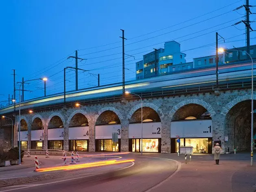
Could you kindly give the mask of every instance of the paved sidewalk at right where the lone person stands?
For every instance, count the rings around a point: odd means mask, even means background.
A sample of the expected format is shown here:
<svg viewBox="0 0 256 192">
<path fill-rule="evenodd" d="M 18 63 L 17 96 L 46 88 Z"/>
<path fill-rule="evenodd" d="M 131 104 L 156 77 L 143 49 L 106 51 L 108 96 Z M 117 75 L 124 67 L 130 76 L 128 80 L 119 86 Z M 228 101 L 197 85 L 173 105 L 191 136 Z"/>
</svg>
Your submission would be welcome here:
<svg viewBox="0 0 256 192">
<path fill-rule="evenodd" d="M 184 155 L 144 153 L 149 157 L 161 157 L 182 163 L 181 170 L 153 192 L 191 191 L 191 192 L 255 192 L 256 158 L 254 167 L 250 166 L 250 153 L 223 154 L 219 165 L 215 165 L 214 155 L 194 154 L 187 164 Z"/>
</svg>

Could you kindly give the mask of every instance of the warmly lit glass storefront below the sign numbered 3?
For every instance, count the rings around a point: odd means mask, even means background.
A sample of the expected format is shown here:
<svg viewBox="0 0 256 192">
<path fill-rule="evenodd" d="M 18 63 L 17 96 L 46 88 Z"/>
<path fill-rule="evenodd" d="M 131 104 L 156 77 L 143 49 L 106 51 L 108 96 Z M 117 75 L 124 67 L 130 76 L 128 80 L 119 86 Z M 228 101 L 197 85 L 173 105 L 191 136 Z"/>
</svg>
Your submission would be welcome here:
<svg viewBox="0 0 256 192">
<path fill-rule="evenodd" d="M 118 139 L 118 142 L 115 144 L 112 139 L 96 139 L 96 151 L 120 151 L 121 139 Z"/>
</svg>

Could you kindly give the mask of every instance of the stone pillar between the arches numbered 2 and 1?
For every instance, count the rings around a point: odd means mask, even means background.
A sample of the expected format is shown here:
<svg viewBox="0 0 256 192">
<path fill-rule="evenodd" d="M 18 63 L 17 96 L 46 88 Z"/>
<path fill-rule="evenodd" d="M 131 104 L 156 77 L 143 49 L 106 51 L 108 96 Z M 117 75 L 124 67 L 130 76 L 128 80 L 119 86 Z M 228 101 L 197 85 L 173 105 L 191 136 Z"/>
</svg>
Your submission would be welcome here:
<svg viewBox="0 0 256 192">
<path fill-rule="evenodd" d="M 161 126 L 161 153 L 171 153 L 171 121 L 164 117 L 161 119 Z"/>
</svg>

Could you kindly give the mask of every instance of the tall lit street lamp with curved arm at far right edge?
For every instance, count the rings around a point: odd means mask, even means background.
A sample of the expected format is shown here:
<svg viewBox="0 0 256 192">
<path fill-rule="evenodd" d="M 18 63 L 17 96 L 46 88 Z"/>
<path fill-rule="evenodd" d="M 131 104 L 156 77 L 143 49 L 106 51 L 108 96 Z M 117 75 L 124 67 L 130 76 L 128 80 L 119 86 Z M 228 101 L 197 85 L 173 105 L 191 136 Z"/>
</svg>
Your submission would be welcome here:
<svg viewBox="0 0 256 192">
<path fill-rule="evenodd" d="M 219 52 L 224 52 L 225 50 L 223 48 L 218 49 Z M 253 166 L 253 59 L 252 56 L 247 53 L 246 51 L 240 51 L 240 50 L 231 50 L 231 51 L 237 51 L 237 52 L 244 52 L 246 53 L 252 60 L 252 124 L 251 124 L 251 166 Z"/>
</svg>

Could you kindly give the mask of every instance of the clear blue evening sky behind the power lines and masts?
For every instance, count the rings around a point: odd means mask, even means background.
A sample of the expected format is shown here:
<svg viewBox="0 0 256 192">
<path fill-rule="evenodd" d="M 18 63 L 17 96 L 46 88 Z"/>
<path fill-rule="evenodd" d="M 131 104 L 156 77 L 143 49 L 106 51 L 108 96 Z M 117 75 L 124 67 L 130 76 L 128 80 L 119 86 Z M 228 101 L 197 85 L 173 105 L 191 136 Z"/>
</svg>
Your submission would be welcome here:
<svg viewBox="0 0 256 192">
<path fill-rule="evenodd" d="M 78 66 L 91 70 L 90 73 L 100 73 L 101 84 L 121 82 L 120 29 L 125 30 L 125 37 L 128 39 L 125 41 L 126 54 L 135 56 L 135 59 L 126 56 L 126 80 L 135 79 L 135 62 L 143 54 L 153 51 L 153 48 L 163 47 L 165 41 L 179 42 L 181 50 L 187 54 L 187 62 L 199 56 L 215 54 L 215 44 L 203 45 L 215 43 L 216 31 L 228 42 L 220 42 L 221 46 L 244 46 L 244 24 L 237 25 L 237 28 L 231 26 L 240 21 L 242 18 L 239 17 L 245 13 L 244 9 L 237 12 L 232 10 L 244 2 L 245 0 L 2 0 L 0 94 L 4 96 L 0 95 L 0 101 L 7 100 L 8 94 L 13 94 L 12 69 L 16 70 L 17 81 L 21 81 L 22 77 L 25 80 L 48 77 L 47 94 L 62 92 L 62 70 L 64 67 L 74 66 L 75 60 L 66 58 L 74 56 L 75 50 L 78 50 L 78 56 L 87 59 L 79 62 Z M 224 8 L 220 9 L 222 7 Z M 216 9 L 219 10 L 215 11 Z M 211 11 L 214 12 L 204 15 Z M 252 12 L 255 13 L 256 8 Z M 204 16 L 198 17 L 200 15 Z M 193 19 L 195 17 L 198 18 Z M 189 19 L 192 20 L 185 22 Z M 206 19 L 209 20 L 204 21 Z M 255 19 L 256 15 L 250 16 L 250 20 Z M 255 23 L 252 28 L 256 29 Z M 154 32 L 157 30 L 159 31 Z M 256 33 L 251 32 L 251 45 L 256 44 L 255 37 Z M 97 47 L 108 43 L 114 44 Z M 200 46 L 203 47 L 193 49 Z M 90 47 L 96 48 L 87 49 Z M 74 77 L 74 71 L 67 72 L 67 90 L 75 88 Z M 96 86 L 97 83 L 97 79 L 88 72 L 79 73 L 79 88 Z M 41 81 L 26 86 L 32 92 L 25 93 L 25 100 L 43 96 L 42 88 Z"/>
</svg>

